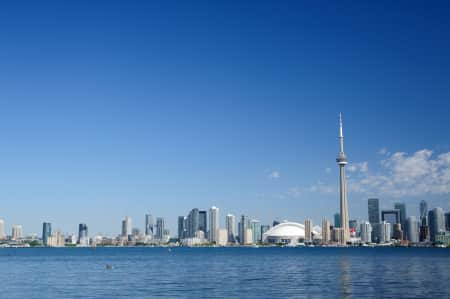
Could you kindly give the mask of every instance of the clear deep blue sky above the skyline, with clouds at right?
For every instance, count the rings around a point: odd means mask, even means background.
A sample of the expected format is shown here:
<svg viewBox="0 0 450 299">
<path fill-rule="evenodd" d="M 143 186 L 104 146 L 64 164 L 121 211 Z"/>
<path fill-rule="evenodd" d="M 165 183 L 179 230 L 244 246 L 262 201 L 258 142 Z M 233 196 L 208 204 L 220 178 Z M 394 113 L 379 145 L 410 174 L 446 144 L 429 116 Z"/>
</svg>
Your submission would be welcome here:
<svg viewBox="0 0 450 299">
<path fill-rule="evenodd" d="M 448 1 L 2 2 L 0 218 L 332 220 L 339 112 L 351 219 L 448 211 L 449 36 Z"/>
</svg>

